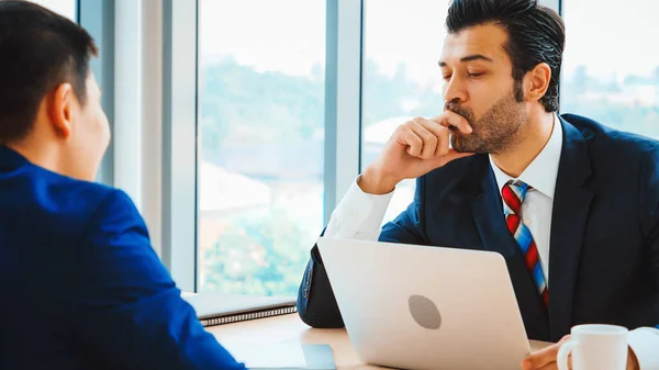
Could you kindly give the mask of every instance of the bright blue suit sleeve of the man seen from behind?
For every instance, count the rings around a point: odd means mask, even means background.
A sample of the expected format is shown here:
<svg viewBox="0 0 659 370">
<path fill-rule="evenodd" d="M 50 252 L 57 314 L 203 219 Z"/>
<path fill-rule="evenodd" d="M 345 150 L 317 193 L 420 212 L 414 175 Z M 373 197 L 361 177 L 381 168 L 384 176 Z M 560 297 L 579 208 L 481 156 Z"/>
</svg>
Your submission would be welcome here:
<svg viewBox="0 0 659 370">
<path fill-rule="evenodd" d="M 244 369 L 197 319 L 152 248 L 130 198 L 113 191 L 78 250 L 71 322 L 79 348 L 111 369 Z"/>
</svg>

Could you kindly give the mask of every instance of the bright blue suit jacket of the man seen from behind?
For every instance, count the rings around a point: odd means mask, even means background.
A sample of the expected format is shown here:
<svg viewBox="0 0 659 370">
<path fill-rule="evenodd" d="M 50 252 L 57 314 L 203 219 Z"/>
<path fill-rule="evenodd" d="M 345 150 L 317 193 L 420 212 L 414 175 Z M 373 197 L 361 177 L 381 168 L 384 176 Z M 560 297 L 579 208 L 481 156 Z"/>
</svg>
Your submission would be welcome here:
<svg viewBox="0 0 659 370">
<path fill-rule="evenodd" d="M 244 369 L 206 333 L 129 197 L 0 146 L 0 369 Z"/>
</svg>

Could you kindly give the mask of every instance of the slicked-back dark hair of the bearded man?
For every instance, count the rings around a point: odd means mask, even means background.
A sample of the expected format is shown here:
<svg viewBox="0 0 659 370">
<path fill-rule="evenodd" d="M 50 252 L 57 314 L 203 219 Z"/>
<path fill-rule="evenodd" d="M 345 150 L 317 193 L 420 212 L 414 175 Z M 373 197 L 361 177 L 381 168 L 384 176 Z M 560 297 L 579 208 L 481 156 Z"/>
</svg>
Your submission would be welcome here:
<svg viewBox="0 0 659 370">
<path fill-rule="evenodd" d="M 545 111 L 558 111 L 558 82 L 566 44 L 566 27 L 552 9 L 537 0 L 453 0 L 446 16 L 450 34 L 474 25 L 501 25 L 509 35 L 505 51 L 513 64 L 515 98 L 524 99 L 524 75 L 540 63 L 551 68 L 551 80 L 540 102 Z"/>
</svg>

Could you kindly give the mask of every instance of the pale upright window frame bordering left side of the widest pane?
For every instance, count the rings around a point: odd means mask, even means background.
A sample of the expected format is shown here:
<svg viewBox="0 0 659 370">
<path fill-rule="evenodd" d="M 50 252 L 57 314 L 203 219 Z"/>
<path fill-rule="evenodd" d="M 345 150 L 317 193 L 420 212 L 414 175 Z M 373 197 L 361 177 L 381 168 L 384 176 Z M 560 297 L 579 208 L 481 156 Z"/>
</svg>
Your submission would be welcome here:
<svg viewBox="0 0 659 370">
<path fill-rule="evenodd" d="M 161 258 L 190 292 L 198 288 L 198 5 L 163 2 Z"/>
</svg>

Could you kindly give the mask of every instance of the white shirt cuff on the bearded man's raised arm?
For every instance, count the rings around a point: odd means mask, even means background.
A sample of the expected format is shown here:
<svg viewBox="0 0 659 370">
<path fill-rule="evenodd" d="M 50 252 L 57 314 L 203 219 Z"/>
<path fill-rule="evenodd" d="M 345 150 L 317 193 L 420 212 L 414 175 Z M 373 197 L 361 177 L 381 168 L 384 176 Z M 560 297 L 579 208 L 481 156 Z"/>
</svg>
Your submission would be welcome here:
<svg viewBox="0 0 659 370">
<path fill-rule="evenodd" d="M 393 191 L 383 195 L 367 194 L 358 182 L 359 177 L 332 213 L 325 237 L 377 240 L 380 236 L 380 225 Z"/>
</svg>

